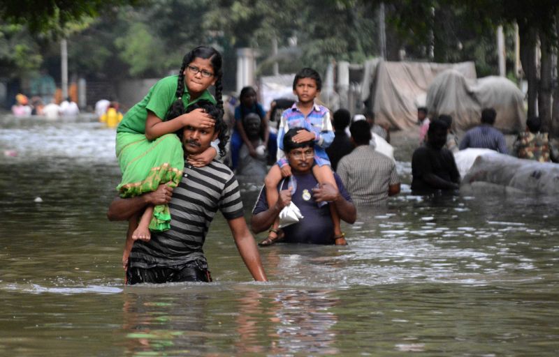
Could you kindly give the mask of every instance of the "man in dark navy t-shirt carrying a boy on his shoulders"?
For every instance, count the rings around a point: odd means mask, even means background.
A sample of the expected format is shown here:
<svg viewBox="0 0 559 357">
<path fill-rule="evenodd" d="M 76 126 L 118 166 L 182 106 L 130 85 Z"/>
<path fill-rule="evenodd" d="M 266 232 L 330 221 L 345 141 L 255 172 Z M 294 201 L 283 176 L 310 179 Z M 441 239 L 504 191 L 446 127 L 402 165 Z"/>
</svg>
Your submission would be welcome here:
<svg viewBox="0 0 559 357">
<path fill-rule="evenodd" d="M 293 142 L 293 137 L 303 128 L 293 128 L 283 138 L 284 152 L 291 167 L 292 176 L 279 183 L 279 199 L 273 207 L 266 202 L 263 187 L 252 211 L 251 228 L 254 233 L 266 231 L 273 225 L 279 212 L 291 202 L 301 211 L 303 218 L 283 228 L 284 243 L 334 244 L 334 227 L 328 204 L 335 202 L 340 218 L 349 224 L 356 220 L 356 208 L 339 176 L 334 174 L 338 190 L 331 185 L 319 185 L 312 175 L 314 165 L 314 142 Z"/>
</svg>

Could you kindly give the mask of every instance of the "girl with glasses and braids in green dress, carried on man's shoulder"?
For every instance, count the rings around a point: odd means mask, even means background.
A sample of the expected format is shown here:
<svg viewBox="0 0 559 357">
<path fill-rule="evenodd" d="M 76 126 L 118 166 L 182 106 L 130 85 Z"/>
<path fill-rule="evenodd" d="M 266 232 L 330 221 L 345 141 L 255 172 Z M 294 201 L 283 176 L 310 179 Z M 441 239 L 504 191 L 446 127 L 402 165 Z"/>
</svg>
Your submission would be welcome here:
<svg viewBox="0 0 559 357">
<path fill-rule="evenodd" d="M 208 88 L 215 86 L 215 98 Z M 176 187 L 184 169 L 184 152 L 175 132 L 184 126 L 214 126 L 214 119 L 203 109 L 187 112 L 198 100 L 209 100 L 223 112 L 222 56 L 212 47 L 200 46 L 184 55 L 178 75 L 154 84 L 147 96 L 134 105 L 117 128 L 116 152 L 122 171 L 117 186 L 120 197 L 133 197 L 154 191 L 161 183 Z M 219 143 L 187 160 L 190 165 L 207 165 L 219 150 Z M 150 240 L 151 231 L 170 227 L 167 205 L 148 206 L 141 217 L 129 220 L 122 264 L 126 269 L 133 241 Z"/>
</svg>

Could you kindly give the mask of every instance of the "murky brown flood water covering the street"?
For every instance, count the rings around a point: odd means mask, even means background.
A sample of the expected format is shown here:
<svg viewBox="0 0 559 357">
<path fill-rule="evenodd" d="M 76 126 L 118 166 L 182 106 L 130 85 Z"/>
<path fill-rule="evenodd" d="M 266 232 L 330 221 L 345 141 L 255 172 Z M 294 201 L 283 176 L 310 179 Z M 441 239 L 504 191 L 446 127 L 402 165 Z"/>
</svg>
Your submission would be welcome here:
<svg viewBox="0 0 559 357">
<path fill-rule="evenodd" d="M 397 149 L 408 184 L 347 247 L 259 248 L 270 282 L 252 282 L 218 214 L 214 282 L 124 287 L 114 140 L 0 116 L 0 356 L 559 354 L 557 197 L 412 196 Z"/>
</svg>

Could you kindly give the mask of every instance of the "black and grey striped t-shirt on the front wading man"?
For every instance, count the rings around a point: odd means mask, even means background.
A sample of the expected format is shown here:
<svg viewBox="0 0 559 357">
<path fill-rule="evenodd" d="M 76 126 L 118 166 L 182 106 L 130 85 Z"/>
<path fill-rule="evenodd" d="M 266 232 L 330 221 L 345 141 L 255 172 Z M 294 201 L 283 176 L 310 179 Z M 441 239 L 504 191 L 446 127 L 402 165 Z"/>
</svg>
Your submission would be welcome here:
<svg viewBox="0 0 559 357">
<path fill-rule="evenodd" d="M 130 266 L 192 264 L 207 268 L 202 247 L 217 210 L 226 220 L 243 216 L 239 185 L 231 169 L 216 160 L 205 167 L 184 165 L 182 181 L 169 203 L 170 229 L 152 232 L 149 242 L 134 242 Z"/>
</svg>

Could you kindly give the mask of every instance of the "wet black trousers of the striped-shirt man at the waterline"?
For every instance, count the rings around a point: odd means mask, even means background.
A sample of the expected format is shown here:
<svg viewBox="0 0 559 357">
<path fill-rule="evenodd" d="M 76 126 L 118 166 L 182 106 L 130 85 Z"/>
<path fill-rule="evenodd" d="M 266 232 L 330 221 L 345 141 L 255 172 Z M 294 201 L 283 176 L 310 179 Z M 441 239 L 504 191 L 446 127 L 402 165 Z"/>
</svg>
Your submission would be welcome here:
<svg viewBox="0 0 559 357">
<path fill-rule="evenodd" d="M 208 269 L 201 269 L 189 264 L 156 267 L 156 268 L 128 268 L 126 270 L 126 284 L 164 284 L 166 282 L 211 282 L 212 276 Z"/>
</svg>

